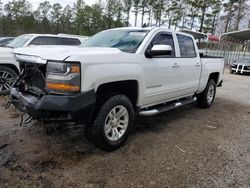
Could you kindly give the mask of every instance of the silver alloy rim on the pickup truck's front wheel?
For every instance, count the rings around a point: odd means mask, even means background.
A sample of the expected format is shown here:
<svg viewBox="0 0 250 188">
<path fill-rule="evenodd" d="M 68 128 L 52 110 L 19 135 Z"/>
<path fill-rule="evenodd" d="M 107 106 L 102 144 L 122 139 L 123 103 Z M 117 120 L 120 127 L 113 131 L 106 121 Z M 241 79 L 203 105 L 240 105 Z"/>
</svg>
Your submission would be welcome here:
<svg viewBox="0 0 250 188">
<path fill-rule="evenodd" d="M 128 110 L 124 106 L 114 107 L 105 120 L 105 136 L 110 141 L 118 141 L 126 132 L 128 123 Z"/>
</svg>

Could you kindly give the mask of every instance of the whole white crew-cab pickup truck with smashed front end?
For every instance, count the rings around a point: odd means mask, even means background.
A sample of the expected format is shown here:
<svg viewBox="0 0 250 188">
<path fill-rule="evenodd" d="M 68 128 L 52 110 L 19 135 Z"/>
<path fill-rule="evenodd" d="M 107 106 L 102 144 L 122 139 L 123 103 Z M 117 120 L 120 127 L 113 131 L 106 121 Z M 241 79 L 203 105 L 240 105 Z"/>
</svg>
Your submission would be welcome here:
<svg viewBox="0 0 250 188">
<path fill-rule="evenodd" d="M 10 103 L 44 123 L 85 123 L 87 137 L 108 151 L 125 142 L 136 115 L 195 101 L 210 107 L 224 70 L 223 59 L 200 58 L 191 35 L 165 28 L 118 28 L 83 47 L 14 53 L 22 74 Z"/>
</svg>

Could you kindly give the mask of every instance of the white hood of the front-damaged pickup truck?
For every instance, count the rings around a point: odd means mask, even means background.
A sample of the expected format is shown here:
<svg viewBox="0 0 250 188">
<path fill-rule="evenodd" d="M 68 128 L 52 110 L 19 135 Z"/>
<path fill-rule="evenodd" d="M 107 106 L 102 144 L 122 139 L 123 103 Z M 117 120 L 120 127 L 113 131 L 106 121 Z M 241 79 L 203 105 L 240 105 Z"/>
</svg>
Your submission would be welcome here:
<svg viewBox="0 0 250 188">
<path fill-rule="evenodd" d="M 98 54 L 118 54 L 121 53 L 116 48 L 99 48 L 99 47 L 75 47 L 75 46 L 32 46 L 17 48 L 14 54 L 37 56 L 45 60 L 63 61 L 69 56 L 75 55 L 98 55 Z"/>
</svg>

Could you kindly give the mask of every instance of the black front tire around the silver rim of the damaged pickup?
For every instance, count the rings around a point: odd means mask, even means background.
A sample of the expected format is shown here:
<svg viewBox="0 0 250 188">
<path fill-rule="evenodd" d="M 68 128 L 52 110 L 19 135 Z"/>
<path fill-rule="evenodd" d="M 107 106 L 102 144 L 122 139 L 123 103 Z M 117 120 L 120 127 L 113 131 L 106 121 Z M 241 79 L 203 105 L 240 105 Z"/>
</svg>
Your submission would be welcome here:
<svg viewBox="0 0 250 188">
<path fill-rule="evenodd" d="M 126 117 L 128 117 L 127 128 L 122 136 L 116 140 L 111 141 L 105 134 L 105 124 L 110 120 L 109 115 L 113 109 L 124 107 L 126 109 Z M 118 111 L 119 112 L 119 111 Z M 118 116 L 117 116 L 118 117 Z M 127 140 L 134 123 L 135 113 L 130 100 L 125 95 L 114 95 L 107 99 L 99 108 L 94 118 L 92 125 L 87 128 L 87 138 L 94 143 L 96 147 L 105 151 L 114 151 L 121 147 Z M 117 121 L 117 120 L 116 120 Z M 112 122 L 112 121 L 111 121 Z M 119 121 L 118 121 L 119 122 Z M 117 125 L 116 125 L 117 126 Z M 112 132 L 110 125 L 110 133 Z M 116 128 L 118 130 L 118 128 Z M 112 132 L 113 134 L 113 132 Z"/>
</svg>

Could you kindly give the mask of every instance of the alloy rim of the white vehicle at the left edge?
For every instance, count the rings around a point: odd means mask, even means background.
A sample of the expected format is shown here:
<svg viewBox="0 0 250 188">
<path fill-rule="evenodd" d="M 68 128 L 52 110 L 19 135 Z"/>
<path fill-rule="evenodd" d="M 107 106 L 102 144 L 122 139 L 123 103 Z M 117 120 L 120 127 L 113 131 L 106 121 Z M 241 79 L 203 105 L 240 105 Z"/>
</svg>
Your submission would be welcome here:
<svg viewBox="0 0 250 188">
<path fill-rule="evenodd" d="M 9 91 L 15 82 L 15 76 L 8 71 L 0 70 L 0 92 Z"/>
</svg>

